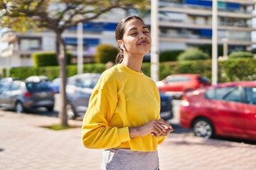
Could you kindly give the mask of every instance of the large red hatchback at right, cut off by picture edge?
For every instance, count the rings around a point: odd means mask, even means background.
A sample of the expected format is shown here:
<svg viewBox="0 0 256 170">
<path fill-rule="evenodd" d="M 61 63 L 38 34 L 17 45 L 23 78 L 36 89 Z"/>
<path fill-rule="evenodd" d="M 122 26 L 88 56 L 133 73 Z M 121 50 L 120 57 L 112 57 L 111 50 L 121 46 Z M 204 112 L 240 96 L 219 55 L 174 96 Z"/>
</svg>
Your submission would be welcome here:
<svg viewBox="0 0 256 170">
<path fill-rule="evenodd" d="M 196 136 L 256 140 L 256 81 L 208 86 L 181 99 L 180 124 Z"/>
</svg>

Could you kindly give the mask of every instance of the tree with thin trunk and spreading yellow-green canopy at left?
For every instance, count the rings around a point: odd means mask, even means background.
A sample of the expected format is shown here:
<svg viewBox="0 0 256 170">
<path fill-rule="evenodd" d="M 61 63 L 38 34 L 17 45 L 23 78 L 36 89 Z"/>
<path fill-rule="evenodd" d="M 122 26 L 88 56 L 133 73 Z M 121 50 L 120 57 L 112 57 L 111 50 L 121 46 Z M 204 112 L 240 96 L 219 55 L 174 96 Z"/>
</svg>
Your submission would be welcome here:
<svg viewBox="0 0 256 170">
<path fill-rule="evenodd" d="M 80 22 L 91 21 L 112 8 L 146 8 L 147 0 L 1 0 L 1 26 L 25 32 L 30 29 L 53 30 L 60 64 L 60 124 L 68 126 L 65 111 L 66 47 L 63 32 Z"/>
</svg>

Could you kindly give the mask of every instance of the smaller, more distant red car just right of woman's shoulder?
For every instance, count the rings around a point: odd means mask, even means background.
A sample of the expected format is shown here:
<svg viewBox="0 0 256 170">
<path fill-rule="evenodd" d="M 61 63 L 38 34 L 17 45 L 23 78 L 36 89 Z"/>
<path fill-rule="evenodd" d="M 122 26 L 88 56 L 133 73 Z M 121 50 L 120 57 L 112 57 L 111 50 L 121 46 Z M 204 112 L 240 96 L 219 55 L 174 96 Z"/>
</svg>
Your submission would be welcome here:
<svg viewBox="0 0 256 170">
<path fill-rule="evenodd" d="M 187 91 L 210 86 L 210 80 L 200 74 L 173 74 L 156 82 L 159 91 L 174 98 L 181 98 Z"/>
</svg>

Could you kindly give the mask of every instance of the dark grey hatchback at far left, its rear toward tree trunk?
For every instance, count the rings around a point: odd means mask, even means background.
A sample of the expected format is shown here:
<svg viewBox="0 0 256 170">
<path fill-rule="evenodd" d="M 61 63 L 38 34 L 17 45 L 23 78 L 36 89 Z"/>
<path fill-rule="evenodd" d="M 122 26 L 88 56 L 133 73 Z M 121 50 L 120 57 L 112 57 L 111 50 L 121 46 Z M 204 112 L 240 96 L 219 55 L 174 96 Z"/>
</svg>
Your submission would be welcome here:
<svg viewBox="0 0 256 170">
<path fill-rule="evenodd" d="M 54 108 L 54 91 L 48 81 L 14 80 L 0 88 L 0 106 L 23 113 L 28 108 Z"/>
</svg>

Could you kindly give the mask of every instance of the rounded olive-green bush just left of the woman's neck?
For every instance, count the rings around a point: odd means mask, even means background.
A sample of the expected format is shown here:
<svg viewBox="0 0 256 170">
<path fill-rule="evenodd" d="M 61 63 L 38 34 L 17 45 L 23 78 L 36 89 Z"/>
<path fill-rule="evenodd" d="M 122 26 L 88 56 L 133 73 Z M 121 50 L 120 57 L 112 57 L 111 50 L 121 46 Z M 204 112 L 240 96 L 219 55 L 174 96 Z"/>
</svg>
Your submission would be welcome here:
<svg viewBox="0 0 256 170">
<path fill-rule="evenodd" d="M 113 45 L 97 45 L 96 53 L 95 53 L 95 62 L 97 63 L 107 63 L 107 62 L 115 62 L 115 58 L 117 57 L 117 47 Z"/>
</svg>

